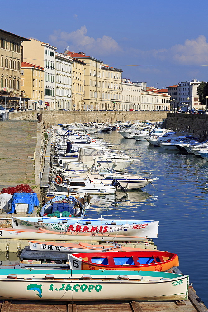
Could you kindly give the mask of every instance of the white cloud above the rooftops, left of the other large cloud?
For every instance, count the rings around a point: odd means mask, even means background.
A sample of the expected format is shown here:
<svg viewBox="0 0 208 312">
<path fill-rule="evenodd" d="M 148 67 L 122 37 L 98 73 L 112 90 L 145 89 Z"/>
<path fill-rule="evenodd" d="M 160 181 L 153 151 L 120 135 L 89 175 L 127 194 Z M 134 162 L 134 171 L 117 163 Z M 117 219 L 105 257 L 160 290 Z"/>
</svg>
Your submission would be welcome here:
<svg viewBox="0 0 208 312">
<path fill-rule="evenodd" d="M 102 56 L 122 51 L 122 48 L 110 36 L 103 35 L 102 38 L 96 39 L 87 36 L 86 26 L 70 33 L 54 30 L 54 33 L 50 35 L 50 41 L 58 47 L 69 46 L 71 51 L 83 51 L 91 55 L 94 53 Z"/>
</svg>

